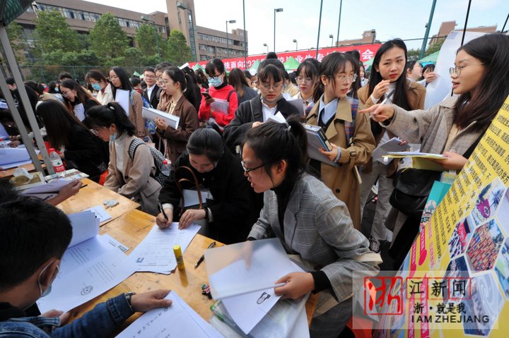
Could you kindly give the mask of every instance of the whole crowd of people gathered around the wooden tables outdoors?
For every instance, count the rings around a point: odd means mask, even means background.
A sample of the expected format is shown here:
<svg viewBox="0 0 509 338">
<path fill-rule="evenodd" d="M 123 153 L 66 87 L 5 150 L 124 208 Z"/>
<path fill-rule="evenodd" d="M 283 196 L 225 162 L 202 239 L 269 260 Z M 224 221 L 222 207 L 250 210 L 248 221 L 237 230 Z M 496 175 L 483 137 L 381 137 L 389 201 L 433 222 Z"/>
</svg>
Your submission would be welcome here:
<svg viewBox="0 0 509 338">
<path fill-rule="evenodd" d="M 286 285 L 276 288 L 276 294 L 298 298 L 320 292 L 311 337 L 337 337 L 351 317 L 351 295 L 363 286 L 353 272 L 377 274 L 382 243 L 390 243 L 393 268 L 399 269 L 419 233 L 420 219 L 390 205 L 394 176 L 409 163 L 379 162 L 373 150 L 397 137 L 421 152 L 445 155 L 447 159 L 434 160 L 443 171 L 461 170 L 509 95 L 509 37 L 487 34 L 471 40 L 458 49 L 451 66 L 453 95 L 427 110 L 426 86 L 447 74 L 408 61 L 399 39 L 382 44 L 370 73 L 357 51 L 332 53 L 321 62 L 306 59 L 293 73 L 269 53 L 257 71 L 235 68 L 227 75 L 221 59 L 211 59 L 204 71 L 196 72 L 163 62 L 146 67 L 141 78 L 129 78 L 122 67 L 112 67 L 107 74 L 90 70 L 83 79 L 86 85 L 67 73 L 47 87 L 27 81 L 30 102 L 21 100 L 8 79 L 11 93 L 4 95 L 16 99 L 28 132 L 32 129 L 24 105 L 31 105 L 42 136 L 68 167 L 140 203 L 159 227 L 179 222 L 183 229 L 204 221 L 206 236 L 226 244 L 279 239 L 288 254 L 299 255 L 312 271 L 282 276 L 278 282 Z M 120 89 L 130 92 L 129 111 L 115 100 Z M 285 97 L 302 99 L 304 114 Z M 142 109 L 148 106 L 179 117 L 176 128 L 164 119 L 144 119 Z M 78 109 L 83 109 L 83 120 Z M 277 113 L 286 121 L 273 121 Z M 8 109 L 0 111 L 0 122 L 11 145 L 19 145 L 23 140 Z M 317 150 L 335 165 L 310 159 L 303 122 L 322 128 L 332 150 Z M 161 159 L 171 164 L 167 176 L 161 174 Z M 361 228 L 363 207 L 374 185 L 378 201 L 367 233 Z M 203 208 L 179 206 L 182 189 L 192 188 L 208 192 Z M 37 204 L 26 198 L 0 204 L 0 217 L 9 215 L 12 224 L 21 224 L 18 219 L 27 217 L 22 214 L 28 207 L 34 215 L 57 215 L 54 222 L 62 233 L 68 231 L 62 212 L 30 203 Z M 37 231 L 45 238 L 43 230 Z M 23 230 L 9 238 L 13 236 L 28 235 Z M 37 262 L 16 258 L 25 277 L 0 278 L 1 302 L 21 311 L 43 294 L 70 240 L 64 237 L 51 250 L 35 249 L 41 253 Z M 0 264 L 7 271 L 11 257 L 24 249 L 13 240 L 4 250 L 6 236 L 1 238 Z M 13 288 L 34 289 L 34 283 L 39 289 L 30 291 L 33 295 L 23 291 L 23 301 L 13 296 Z M 139 298 L 163 306 L 155 300 L 163 293 Z M 112 298 L 106 306 L 115 302 L 122 299 Z M 13 325 L 8 319 L 13 316 L 2 316 L 1 304 L 0 328 L 6 320 Z M 124 311 L 130 315 L 153 306 L 132 303 Z"/>
</svg>

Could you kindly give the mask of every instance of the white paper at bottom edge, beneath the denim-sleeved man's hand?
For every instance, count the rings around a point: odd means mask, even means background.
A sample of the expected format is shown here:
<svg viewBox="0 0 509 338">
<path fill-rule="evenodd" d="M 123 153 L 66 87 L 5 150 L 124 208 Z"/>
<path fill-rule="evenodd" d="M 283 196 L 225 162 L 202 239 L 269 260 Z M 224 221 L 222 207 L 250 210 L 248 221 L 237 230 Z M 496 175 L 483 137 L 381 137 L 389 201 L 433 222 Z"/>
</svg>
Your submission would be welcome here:
<svg viewBox="0 0 509 338">
<path fill-rule="evenodd" d="M 191 307 L 180 298 L 175 291 L 171 291 L 165 299 L 171 299 L 168 308 L 154 308 L 147 311 L 134 321 L 127 329 L 120 332 L 117 338 L 141 337 L 193 337 L 193 338 L 222 338 L 211 325 L 201 318 Z M 185 305 L 185 306 L 184 306 Z"/>
</svg>

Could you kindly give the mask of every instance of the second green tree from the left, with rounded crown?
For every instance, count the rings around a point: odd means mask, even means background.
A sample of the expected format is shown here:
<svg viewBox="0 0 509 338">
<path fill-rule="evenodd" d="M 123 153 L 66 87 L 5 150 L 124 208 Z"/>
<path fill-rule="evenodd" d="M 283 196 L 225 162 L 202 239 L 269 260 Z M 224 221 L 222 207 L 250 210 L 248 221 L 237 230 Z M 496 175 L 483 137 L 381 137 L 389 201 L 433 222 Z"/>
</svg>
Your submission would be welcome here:
<svg viewBox="0 0 509 338">
<path fill-rule="evenodd" d="M 89 30 L 90 49 L 105 59 L 115 59 L 124 56 L 129 48 L 129 38 L 122 30 L 115 16 L 107 12 Z"/>
</svg>

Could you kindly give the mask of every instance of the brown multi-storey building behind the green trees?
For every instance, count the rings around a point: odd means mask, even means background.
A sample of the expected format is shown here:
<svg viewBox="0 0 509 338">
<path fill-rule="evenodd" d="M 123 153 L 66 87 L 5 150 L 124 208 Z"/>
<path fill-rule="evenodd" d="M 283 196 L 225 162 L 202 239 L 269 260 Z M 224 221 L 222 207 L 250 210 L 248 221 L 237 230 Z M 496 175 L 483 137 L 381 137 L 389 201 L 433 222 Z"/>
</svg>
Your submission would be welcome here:
<svg viewBox="0 0 509 338">
<path fill-rule="evenodd" d="M 244 56 L 244 35 L 247 33 L 243 30 L 231 30 L 228 32 L 228 42 L 226 43 L 226 31 L 212 30 L 196 25 L 194 1 L 183 0 L 182 4 L 188 9 L 177 8 L 175 1 L 168 0 L 166 6 L 168 13 L 153 12 L 140 13 L 128 11 L 112 6 L 95 4 L 83 0 L 41 0 L 36 1 L 37 9 L 29 8 L 28 11 L 16 18 L 16 22 L 23 27 L 25 37 L 28 40 L 28 51 L 26 51 L 27 59 L 33 59 L 31 54 L 33 49 L 33 33 L 35 32 L 35 24 L 33 20 L 37 18 L 35 11 L 59 11 L 62 16 L 66 17 L 67 23 L 71 25 L 71 29 L 77 30 L 80 34 L 88 34 L 88 30 L 93 28 L 95 22 L 107 12 L 113 13 L 117 18 L 122 29 L 127 33 L 127 37 L 131 40 L 129 45 L 134 46 L 133 37 L 144 20 L 141 16 L 148 16 L 150 20 L 156 23 L 158 32 L 163 38 L 168 39 L 171 30 L 180 30 L 186 37 L 187 45 L 191 47 L 192 55 L 196 55 L 198 61 L 205 61 L 213 58 L 225 59 L 233 56 Z M 150 23 L 152 25 L 152 23 Z M 247 45 L 246 45 L 247 50 Z"/>
</svg>

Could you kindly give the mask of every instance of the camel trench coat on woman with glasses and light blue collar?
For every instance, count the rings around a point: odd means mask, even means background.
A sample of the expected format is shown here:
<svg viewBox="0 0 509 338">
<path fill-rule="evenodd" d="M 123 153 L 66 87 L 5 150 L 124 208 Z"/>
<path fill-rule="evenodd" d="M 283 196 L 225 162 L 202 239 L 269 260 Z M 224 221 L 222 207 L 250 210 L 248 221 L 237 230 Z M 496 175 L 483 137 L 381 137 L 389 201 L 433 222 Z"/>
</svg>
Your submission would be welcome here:
<svg viewBox="0 0 509 338">
<path fill-rule="evenodd" d="M 315 104 L 308 115 L 308 123 L 318 126 L 318 109 L 320 102 Z M 359 103 L 358 111 L 364 109 Z M 340 99 L 334 116 L 325 135 L 331 143 L 341 149 L 338 167 L 322 163 L 320 174 L 325 185 L 332 190 L 332 193 L 346 204 L 353 221 L 353 227 L 361 231 L 361 190 L 356 166 L 368 162 L 371 153 L 375 150 L 375 138 L 371 133 L 368 114 L 357 112 L 355 127 L 353 129 L 353 145 L 348 146 L 344 121 L 352 121 L 351 104 L 347 97 Z"/>
</svg>

